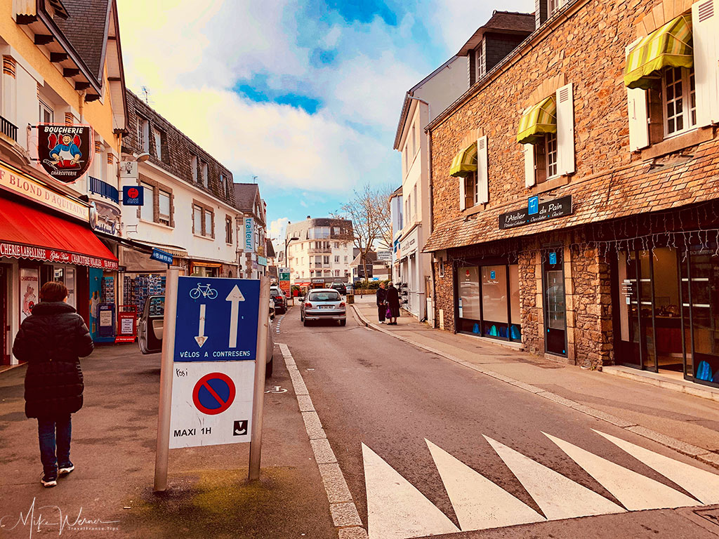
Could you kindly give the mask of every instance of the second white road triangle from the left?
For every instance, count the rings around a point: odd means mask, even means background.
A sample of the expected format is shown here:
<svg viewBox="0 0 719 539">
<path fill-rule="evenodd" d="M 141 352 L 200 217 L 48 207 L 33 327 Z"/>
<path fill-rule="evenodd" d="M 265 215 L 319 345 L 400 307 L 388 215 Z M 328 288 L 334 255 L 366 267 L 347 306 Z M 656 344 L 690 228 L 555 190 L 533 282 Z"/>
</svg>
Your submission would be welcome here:
<svg viewBox="0 0 719 539">
<path fill-rule="evenodd" d="M 463 532 L 545 519 L 482 474 L 425 439 Z"/>
</svg>

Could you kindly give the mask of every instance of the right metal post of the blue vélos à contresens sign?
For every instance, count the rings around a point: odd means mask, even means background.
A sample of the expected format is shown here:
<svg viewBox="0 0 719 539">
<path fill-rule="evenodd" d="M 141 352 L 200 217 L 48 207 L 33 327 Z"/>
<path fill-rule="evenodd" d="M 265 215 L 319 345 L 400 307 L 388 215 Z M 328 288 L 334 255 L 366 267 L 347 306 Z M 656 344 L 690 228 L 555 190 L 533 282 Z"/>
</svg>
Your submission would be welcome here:
<svg viewBox="0 0 719 539">
<path fill-rule="evenodd" d="M 265 367 L 267 361 L 267 332 L 270 331 L 270 279 L 260 277 L 260 320 L 257 323 L 257 359 L 255 359 L 255 395 L 252 398 L 252 434 L 249 440 L 250 481 L 260 478 L 262 453 L 262 408 L 265 403 Z M 265 308 L 262 308 L 265 305 Z"/>
</svg>

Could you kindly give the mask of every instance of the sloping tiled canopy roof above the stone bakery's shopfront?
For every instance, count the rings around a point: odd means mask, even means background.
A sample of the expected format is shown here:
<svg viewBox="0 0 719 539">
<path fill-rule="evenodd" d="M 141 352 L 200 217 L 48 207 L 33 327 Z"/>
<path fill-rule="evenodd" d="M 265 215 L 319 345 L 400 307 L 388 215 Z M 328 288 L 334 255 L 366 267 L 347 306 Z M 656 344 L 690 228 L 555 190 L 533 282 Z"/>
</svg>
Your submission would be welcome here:
<svg viewBox="0 0 719 539">
<path fill-rule="evenodd" d="M 527 198 L 522 195 L 514 203 L 444 221 L 434 226 L 423 252 L 568 229 L 719 198 L 719 139 L 687 149 L 685 154 L 693 158 L 682 165 L 667 162 L 651 170 L 650 161 L 637 161 L 587 178 L 573 178 L 556 190 L 556 198 L 572 195 L 574 213 L 567 217 L 500 230 L 500 213 L 526 208 Z"/>
</svg>

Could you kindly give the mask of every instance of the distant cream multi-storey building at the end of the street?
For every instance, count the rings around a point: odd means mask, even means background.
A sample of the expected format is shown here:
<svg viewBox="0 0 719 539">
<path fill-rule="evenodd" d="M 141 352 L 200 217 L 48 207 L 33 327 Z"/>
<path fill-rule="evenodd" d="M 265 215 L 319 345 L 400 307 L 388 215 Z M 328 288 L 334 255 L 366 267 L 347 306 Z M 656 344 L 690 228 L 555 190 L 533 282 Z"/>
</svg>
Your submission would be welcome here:
<svg viewBox="0 0 719 539">
<path fill-rule="evenodd" d="M 322 277 L 326 283 L 351 280 L 352 221 L 310 218 L 287 226 L 290 282 L 307 284 Z M 297 238 L 297 239 L 293 239 Z"/>
</svg>

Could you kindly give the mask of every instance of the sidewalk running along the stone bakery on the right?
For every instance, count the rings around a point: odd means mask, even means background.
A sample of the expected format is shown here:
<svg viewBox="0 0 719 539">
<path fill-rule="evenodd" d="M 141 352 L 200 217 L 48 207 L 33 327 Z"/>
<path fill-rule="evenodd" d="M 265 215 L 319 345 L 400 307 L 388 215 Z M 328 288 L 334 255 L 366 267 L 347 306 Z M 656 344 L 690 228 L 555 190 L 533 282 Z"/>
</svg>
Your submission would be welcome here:
<svg viewBox="0 0 719 539">
<path fill-rule="evenodd" d="M 430 328 L 409 315 L 377 323 L 374 298 L 355 298 L 359 319 L 410 344 L 574 410 L 651 438 L 719 468 L 719 402 L 592 372 L 495 344 Z"/>
</svg>

